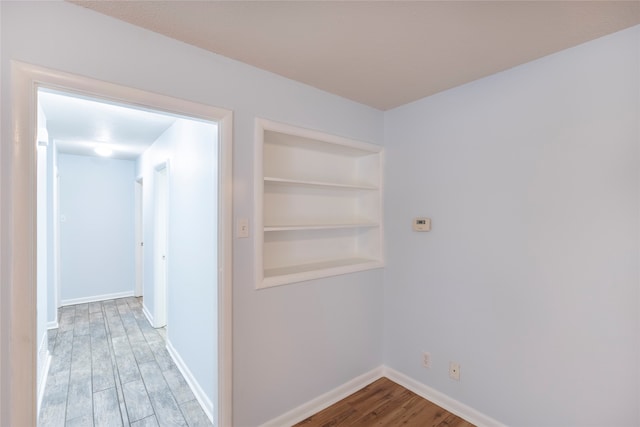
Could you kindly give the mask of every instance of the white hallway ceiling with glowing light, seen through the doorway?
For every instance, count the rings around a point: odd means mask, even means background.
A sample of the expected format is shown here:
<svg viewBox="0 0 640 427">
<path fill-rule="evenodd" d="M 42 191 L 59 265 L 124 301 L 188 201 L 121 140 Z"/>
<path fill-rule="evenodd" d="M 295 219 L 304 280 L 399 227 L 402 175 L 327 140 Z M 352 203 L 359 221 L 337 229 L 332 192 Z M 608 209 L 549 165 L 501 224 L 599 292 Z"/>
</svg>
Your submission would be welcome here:
<svg viewBox="0 0 640 427">
<path fill-rule="evenodd" d="M 169 114 L 46 89 L 38 91 L 38 102 L 49 139 L 66 154 L 95 156 L 95 147 L 102 145 L 113 150 L 113 158 L 133 160 L 177 120 Z"/>
</svg>

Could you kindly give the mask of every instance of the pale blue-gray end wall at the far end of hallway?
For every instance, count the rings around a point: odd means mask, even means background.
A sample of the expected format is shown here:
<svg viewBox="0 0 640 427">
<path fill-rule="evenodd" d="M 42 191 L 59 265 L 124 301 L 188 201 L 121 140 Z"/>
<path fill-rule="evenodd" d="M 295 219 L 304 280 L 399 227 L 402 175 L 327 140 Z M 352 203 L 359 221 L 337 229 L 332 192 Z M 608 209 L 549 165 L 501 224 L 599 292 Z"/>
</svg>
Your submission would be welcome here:
<svg viewBox="0 0 640 427">
<path fill-rule="evenodd" d="M 133 160 L 60 154 L 62 304 L 135 286 Z"/>
</svg>

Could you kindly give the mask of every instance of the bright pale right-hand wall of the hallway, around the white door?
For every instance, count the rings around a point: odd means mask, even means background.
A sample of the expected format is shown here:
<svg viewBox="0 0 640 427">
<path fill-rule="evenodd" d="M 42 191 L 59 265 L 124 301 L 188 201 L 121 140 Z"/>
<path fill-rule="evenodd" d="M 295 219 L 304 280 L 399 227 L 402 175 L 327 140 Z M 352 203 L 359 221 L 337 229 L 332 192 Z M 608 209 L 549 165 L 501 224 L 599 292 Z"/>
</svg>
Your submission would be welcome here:
<svg viewBox="0 0 640 427">
<path fill-rule="evenodd" d="M 144 305 L 154 312 L 154 172 L 169 162 L 167 341 L 217 402 L 218 127 L 179 119 L 138 159 L 143 178 Z"/>
</svg>

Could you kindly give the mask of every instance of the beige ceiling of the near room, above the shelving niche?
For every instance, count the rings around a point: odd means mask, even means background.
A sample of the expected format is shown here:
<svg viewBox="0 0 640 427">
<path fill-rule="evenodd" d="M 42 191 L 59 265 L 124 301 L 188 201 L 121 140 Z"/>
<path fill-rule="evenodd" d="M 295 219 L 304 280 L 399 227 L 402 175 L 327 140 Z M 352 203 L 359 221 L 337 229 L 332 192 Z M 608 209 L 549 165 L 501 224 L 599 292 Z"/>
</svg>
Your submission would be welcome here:
<svg viewBox="0 0 640 427">
<path fill-rule="evenodd" d="M 388 110 L 640 23 L 640 1 L 72 3 Z"/>
</svg>

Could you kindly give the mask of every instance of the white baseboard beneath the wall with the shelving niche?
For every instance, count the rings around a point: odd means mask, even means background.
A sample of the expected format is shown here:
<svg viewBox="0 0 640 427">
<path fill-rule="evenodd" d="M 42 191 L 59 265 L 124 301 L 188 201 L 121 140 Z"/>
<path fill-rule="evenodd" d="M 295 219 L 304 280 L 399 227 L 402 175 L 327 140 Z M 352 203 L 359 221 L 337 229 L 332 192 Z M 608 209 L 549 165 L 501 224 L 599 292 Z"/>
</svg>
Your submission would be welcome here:
<svg viewBox="0 0 640 427">
<path fill-rule="evenodd" d="M 382 366 L 375 368 L 372 371 L 362 374 L 359 377 L 356 377 L 351 381 L 348 381 L 345 384 L 292 409 L 286 414 L 267 421 L 262 424 L 261 427 L 282 427 L 297 424 L 316 412 L 333 405 L 350 394 L 353 394 L 361 388 L 371 384 L 378 378 L 382 377 L 383 372 L 384 368 Z"/>
</svg>

